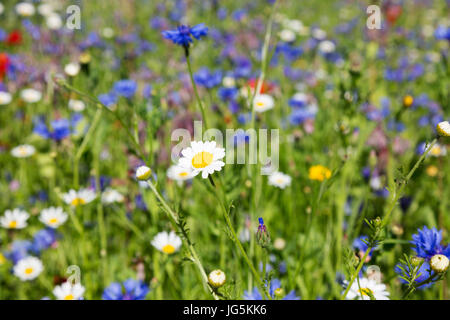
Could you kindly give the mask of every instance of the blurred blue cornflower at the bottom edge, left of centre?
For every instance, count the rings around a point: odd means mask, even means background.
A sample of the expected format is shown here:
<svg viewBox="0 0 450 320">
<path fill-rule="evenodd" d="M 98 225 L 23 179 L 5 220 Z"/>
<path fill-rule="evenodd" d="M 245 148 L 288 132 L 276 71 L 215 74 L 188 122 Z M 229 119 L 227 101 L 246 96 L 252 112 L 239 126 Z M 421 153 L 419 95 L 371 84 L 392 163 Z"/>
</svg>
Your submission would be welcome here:
<svg viewBox="0 0 450 320">
<path fill-rule="evenodd" d="M 113 282 L 104 291 L 103 300 L 144 300 L 149 287 L 140 280 L 128 279 L 123 283 Z"/>
</svg>

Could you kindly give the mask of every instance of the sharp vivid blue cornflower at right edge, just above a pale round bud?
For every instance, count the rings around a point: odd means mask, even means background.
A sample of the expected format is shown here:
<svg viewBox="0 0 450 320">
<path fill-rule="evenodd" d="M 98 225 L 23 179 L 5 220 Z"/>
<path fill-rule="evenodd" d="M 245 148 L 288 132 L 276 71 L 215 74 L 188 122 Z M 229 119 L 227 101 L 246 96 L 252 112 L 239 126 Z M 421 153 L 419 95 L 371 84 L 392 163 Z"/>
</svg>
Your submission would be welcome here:
<svg viewBox="0 0 450 320">
<path fill-rule="evenodd" d="M 435 254 L 443 254 L 450 258 L 450 246 L 441 245 L 442 230 L 428 229 L 424 226 L 417 231 L 418 233 L 413 234 L 411 243 L 414 245 L 413 250 L 418 257 L 431 259 Z"/>
</svg>

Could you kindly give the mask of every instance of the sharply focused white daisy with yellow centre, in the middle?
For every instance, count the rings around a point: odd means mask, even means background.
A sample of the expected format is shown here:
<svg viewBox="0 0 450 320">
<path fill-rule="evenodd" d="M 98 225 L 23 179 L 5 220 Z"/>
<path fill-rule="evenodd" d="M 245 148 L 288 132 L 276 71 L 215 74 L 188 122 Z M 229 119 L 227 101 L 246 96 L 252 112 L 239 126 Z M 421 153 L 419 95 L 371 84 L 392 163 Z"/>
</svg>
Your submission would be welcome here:
<svg viewBox="0 0 450 320">
<path fill-rule="evenodd" d="M 225 163 L 221 160 L 225 157 L 225 149 L 216 147 L 215 141 L 192 141 L 191 146 L 181 151 L 183 157 L 178 164 L 192 170 L 192 176 L 202 173 L 202 178 L 214 171 L 222 170 Z"/>
</svg>

